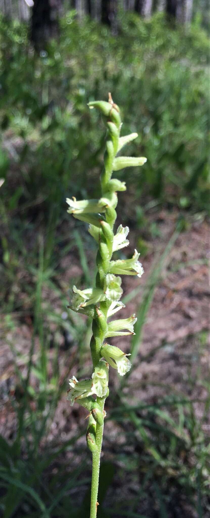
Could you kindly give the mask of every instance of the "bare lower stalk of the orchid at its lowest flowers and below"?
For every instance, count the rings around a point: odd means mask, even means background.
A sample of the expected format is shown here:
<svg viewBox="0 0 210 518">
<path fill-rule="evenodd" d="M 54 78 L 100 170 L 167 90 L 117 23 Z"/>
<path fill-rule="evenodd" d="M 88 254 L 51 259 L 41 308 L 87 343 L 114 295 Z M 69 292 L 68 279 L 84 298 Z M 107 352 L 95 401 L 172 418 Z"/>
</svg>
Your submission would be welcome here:
<svg viewBox="0 0 210 518">
<path fill-rule="evenodd" d="M 97 403 L 103 412 L 104 402 L 106 398 L 97 397 Z M 96 518 L 97 514 L 97 498 L 98 498 L 98 482 L 99 482 L 99 469 L 100 469 L 100 456 L 101 446 L 103 439 L 103 425 L 96 425 L 96 445 L 97 451 L 93 453 L 93 465 L 92 465 L 92 484 L 91 484 L 91 515 L 90 518 Z"/>
</svg>

